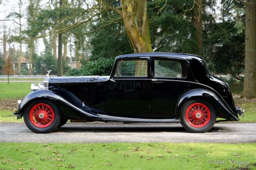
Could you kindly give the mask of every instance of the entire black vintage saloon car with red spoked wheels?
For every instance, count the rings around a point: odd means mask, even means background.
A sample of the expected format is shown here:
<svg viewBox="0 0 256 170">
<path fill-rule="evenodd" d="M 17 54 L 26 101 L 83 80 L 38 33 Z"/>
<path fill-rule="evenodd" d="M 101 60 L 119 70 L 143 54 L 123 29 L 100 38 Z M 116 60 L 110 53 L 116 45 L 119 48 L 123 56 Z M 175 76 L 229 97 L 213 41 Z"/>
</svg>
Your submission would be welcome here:
<svg viewBox="0 0 256 170">
<path fill-rule="evenodd" d="M 73 122 L 180 122 L 207 132 L 216 118 L 239 120 L 227 83 L 212 76 L 201 57 L 176 53 L 116 57 L 110 76 L 46 76 L 31 85 L 13 114 L 36 133 Z"/>
</svg>

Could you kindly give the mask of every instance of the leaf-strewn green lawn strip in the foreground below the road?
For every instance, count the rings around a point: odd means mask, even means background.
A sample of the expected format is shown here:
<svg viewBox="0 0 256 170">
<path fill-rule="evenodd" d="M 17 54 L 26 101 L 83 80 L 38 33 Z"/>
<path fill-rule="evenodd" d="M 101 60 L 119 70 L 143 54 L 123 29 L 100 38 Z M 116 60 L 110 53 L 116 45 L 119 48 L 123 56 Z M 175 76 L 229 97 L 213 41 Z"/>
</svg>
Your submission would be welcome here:
<svg viewBox="0 0 256 170">
<path fill-rule="evenodd" d="M 0 151 L 6 170 L 256 169 L 252 143 L 1 143 Z"/>
</svg>

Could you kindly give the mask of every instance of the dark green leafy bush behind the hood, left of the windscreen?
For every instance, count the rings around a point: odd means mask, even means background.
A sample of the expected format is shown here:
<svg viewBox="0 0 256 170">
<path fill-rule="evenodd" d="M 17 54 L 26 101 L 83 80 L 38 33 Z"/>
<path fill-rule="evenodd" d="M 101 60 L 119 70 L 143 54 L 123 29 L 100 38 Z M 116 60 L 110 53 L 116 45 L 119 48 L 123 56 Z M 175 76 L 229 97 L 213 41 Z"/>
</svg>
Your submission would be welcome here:
<svg viewBox="0 0 256 170">
<path fill-rule="evenodd" d="M 109 75 L 112 71 L 115 58 L 99 58 L 97 60 L 88 60 L 80 69 L 70 69 L 65 75 Z"/>
</svg>

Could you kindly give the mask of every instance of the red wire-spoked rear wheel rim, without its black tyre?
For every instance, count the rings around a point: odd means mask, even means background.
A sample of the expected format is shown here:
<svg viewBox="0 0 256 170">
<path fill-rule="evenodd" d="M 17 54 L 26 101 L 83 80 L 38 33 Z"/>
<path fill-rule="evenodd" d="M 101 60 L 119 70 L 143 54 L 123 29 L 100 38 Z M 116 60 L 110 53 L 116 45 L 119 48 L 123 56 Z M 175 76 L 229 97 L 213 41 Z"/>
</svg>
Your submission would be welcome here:
<svg viewBox="0 0 256 170">
<path fill-rule="evenodd" d="M 203 103 L 191 104 L 186 111 L 186 119 L 192 127 L 202 128 L 210 121 L 210 110 Z"/>
</svg>

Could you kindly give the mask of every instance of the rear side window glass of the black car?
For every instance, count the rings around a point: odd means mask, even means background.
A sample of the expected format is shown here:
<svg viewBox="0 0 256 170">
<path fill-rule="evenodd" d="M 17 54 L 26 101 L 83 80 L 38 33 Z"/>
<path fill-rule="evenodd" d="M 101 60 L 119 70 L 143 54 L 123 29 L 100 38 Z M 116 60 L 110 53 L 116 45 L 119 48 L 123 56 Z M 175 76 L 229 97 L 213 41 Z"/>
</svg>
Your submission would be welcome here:
<svg viewBox="0 0 256 170">
<path fill-rule="evenodd" d="M 186 73 L 178 61 L 174 60 L 154 60 L 154 76 L 155 78 L 185 78 Z"/>
</svg>

